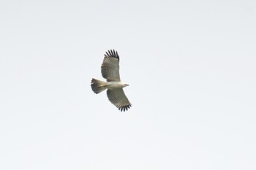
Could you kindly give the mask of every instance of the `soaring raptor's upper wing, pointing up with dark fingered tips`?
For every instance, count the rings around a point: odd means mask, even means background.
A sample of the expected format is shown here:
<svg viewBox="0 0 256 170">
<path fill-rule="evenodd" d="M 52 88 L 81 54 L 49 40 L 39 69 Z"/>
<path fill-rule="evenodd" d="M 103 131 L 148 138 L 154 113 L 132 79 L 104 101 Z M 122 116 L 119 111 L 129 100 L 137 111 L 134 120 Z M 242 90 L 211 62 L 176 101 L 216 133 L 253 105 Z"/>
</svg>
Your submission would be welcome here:
<svg viewBox="0 0 256 170">
<path fill-rule="evenodd" d="M 115 50 L 108 50 L 102 63 L 102 77 L 108 82 L 120 82 L 119 55 Z"/>
</svg>

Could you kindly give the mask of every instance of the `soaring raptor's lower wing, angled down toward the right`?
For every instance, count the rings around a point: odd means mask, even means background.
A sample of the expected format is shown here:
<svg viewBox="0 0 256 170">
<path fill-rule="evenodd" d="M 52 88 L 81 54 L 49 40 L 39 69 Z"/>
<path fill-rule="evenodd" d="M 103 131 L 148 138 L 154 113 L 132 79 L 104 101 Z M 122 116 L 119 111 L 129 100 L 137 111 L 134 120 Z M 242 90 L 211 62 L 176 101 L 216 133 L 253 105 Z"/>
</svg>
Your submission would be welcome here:
<svg viewBox="0 0 256 170">
<path fill-rule="evenodd" d="M 119 110 L 121 109 L 121 111 L 125 112 L 129 107 L 132 107 L 132 104 L 129 102 L 127 96 L 125 96 L 122 88 L 108 89 L 107 95 L 109 101 L 118 107 Z"/>
</svg>

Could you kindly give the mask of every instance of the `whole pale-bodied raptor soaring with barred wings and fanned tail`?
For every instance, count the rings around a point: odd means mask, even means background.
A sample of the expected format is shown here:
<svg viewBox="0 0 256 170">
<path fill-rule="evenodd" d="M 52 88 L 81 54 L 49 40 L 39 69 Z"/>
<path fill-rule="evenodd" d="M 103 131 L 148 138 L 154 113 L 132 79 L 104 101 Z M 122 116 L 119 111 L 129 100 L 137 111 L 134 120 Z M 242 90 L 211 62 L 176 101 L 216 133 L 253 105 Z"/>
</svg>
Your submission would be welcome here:
<svg viewBox="0 0 256 170">
<path fill-rule="evenodd" d="M 105 54 L 102 66 L 102 77 L 107 82 L 92 79 L 91 89 L 94 93 L 100 93 L 105 89 L 107 90 L 107 96 L 109 101 L 114 104 L 119 110 L 126 111 L 132 104 L 129 102 L 127 96 L 124 94 L 123 88 L 128 86 L 120 80 L 119 75 L 119 55 L 115 50 L 108 50 Z"/>
</svg>

